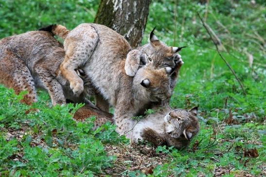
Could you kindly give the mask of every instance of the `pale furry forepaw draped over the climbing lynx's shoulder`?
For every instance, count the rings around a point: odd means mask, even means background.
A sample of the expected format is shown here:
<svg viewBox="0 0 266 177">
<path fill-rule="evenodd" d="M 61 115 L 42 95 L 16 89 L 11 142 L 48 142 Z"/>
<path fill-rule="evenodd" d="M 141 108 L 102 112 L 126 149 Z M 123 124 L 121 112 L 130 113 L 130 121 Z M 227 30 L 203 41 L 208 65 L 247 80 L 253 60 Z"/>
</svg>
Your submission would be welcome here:
<svg viewBox="0 0 266 177">
<path fill-rule="evenodd" d="M 141 60 L 141 52 L 132 50 L 126 55 L 124 70 L 126 75 L 133 77 L 139 69 Z"/>
</svg>

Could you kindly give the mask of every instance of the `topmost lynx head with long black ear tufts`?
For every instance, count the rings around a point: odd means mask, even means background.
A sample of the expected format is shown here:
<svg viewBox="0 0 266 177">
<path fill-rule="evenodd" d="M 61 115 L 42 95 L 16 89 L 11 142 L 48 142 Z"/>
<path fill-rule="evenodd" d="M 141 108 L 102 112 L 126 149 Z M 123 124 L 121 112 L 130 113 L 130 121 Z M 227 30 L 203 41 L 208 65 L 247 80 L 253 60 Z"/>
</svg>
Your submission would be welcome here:
<svg viewBox="0 0 266 177">
<path fill-rule="evenodd" d="M 177 63 L 175 61 L 177 58 L 175 55 L 184 47 L 169 47 L 165 45 L 154 34 L 154 30 L 155 28 L 149 35 L 148 44 L 137 49 L 148 55 L 148 58 L 153 61 L 156 69 L 164 67 L 174 68 Z"/>
</svg>

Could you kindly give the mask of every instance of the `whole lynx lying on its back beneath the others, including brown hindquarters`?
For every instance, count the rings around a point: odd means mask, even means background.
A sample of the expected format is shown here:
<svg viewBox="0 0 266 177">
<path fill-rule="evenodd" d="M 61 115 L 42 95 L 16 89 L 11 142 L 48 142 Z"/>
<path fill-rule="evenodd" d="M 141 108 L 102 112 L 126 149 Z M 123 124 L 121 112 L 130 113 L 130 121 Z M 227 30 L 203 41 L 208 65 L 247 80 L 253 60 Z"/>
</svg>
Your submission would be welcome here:
<svg viewBox="0 0 266 177">
<path fill-rule="evenodd" d="M 189 111 L 185 109 L 172 110 L 170 107 L 165 107 L 148 115 L 140 122 L 131 120 L 134 127 L 131 127 L 132 131 L 126 136 L 131 139 L 132 143 L 145 140 L 154 145 L 175 146 L 178 149 L 186 147 L 199 130 L 196 112 L 196 107 Z M 90 106 L 79 108 L 73 118 L 77 121 L 84 121 L 91 116 L 96 116 L 94 128 L 112 120 L 112 114 Z"/>
</svg>

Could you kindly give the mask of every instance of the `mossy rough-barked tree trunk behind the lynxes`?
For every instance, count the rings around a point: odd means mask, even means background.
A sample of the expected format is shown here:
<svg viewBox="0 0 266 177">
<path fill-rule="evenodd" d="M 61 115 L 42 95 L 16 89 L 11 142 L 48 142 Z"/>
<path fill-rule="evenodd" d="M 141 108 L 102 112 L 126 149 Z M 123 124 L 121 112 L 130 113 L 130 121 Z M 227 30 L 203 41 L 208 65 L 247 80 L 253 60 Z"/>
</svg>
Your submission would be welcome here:
<svg viewBox="0 0 266 177">
<path fill-rule="evenodd" d="M 101 0 L 94 23 L 106 25 L 129 42 L 141 45 L 151 0 Z"/>
</svg>

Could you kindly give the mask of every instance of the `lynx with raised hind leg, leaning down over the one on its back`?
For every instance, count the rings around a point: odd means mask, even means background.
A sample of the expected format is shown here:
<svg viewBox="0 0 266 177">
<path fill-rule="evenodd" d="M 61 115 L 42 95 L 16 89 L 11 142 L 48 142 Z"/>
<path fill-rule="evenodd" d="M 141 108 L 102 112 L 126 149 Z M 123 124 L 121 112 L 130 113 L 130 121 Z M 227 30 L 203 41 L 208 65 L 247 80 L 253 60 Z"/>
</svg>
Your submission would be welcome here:
<svg viewBox="0 0 266 177">
<path fill-rule="evenodd" d="M 75 94 L 83 91 L 83 81 L 74 71 L 83 66 L 94 87 L 114 106 L 114 120 L 119 133 L 131 127 L 130 118 L 149 104 L 171 96 L 171 68 L 157 68 L 154 61 L 142 66 L 132 78 L 124 71 L 130 46 L 123 36 L 99 24 L 80 24 L 72 31 L 61 25 L 47 27 L 64 38 L 65 59 L 60 65 L 62 75 Z M 174 63 L 174 61 L 172 61 Z M 174 65 L 174 64 L 173 64 Z M 96 103 L 97 103 L 96 98 Z"/>
</svg>

